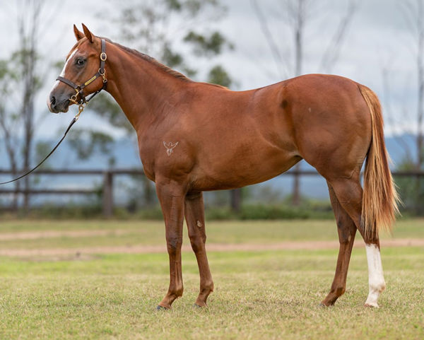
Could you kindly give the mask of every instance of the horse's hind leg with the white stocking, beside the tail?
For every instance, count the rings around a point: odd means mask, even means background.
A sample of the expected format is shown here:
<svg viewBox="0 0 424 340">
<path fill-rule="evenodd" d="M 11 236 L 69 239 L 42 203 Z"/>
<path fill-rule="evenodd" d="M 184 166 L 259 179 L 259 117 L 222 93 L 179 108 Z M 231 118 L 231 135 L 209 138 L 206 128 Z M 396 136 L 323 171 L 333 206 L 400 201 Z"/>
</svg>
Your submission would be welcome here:
<svg viewBox="0 0 424 340">
<path fill-rule="evenodd" d="M 338 202 L 352 218 L 365 241 L 368 262 L 368 283 L 370 287 L 370 293 L 368 294 L 365 305 L 378 307 L 377 300 L 379 294 L 386 288 L 386 283 L 383 276 L 377 228 L 375 233 L 368 235 L 360 223 L 363 190 L 360 187 L 359 175 L 350 179 L 329 180 L 329 182 L 336 193 Z"/>
</svg>

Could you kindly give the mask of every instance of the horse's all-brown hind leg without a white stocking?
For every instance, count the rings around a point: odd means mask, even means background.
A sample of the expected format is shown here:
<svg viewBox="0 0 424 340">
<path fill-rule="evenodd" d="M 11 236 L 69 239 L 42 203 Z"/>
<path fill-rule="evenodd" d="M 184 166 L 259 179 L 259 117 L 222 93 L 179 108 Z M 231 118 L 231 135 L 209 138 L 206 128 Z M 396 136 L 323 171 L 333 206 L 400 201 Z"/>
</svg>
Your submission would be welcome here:
<svg viewBox="0 0 424 340">
<path fill-rule="evenodd" d="M 356 226 L 352 218 L 346 213 L 338 201 L 333 187 L 327 182 L 329 186 L 331 206 L 336 216 L 338 242 L 340 248 L 338 250 L 338 259 L 336 265 L 336 273 L 334 274 L 334 281 L 331 285 L 331 291 L 322 301 L 322 305 L 334 305 L 338 297 L 343 295 L 346 291 L 346 276 L 348 275 L 349 261 L 351 259 L 351 252 L 353 241 L 355 240 Z"/>
</svg>

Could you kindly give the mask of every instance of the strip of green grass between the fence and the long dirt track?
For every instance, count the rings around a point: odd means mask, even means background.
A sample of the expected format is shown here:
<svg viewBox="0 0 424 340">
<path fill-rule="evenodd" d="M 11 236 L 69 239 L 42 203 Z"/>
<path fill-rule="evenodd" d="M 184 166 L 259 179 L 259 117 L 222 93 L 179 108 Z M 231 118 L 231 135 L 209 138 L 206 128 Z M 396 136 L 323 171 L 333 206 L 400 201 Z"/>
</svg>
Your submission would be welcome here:
<svg viewBox="0 0 424 340">
<path fill-rule="evenodd" d="M 107 235 L 84 237 L 61 236 L 33 240 L 1 240 L 1 233 L 41 232 L 48 230 L 109 230 Z M 115 233 L 119 230 L 120 234 Z M 209 243 L 276 243 L 296 240 L 337 240 L 335 221 L 212 221 L 206 223 Z M 382 238 L 391 238 L 382 235 Z M 424 238 L 424 219 L 399 220 L 394 238 Z M 357 233 L 357 242 L 360 235 Z M 184 243 L 189 244 L 187 228 Z M 164 245 L 165 227 L 160 221 L 3 221 L 0 227 L 0 248 L 76 248 L 110 245 Z"/>
</svg>

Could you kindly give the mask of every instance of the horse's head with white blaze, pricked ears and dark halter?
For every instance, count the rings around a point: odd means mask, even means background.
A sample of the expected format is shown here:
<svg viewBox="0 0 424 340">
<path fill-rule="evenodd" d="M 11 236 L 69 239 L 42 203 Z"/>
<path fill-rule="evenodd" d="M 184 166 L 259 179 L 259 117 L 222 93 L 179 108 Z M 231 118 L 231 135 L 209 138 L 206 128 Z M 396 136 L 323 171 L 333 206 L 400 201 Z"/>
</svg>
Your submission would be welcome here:
<svg viewBox="0 0 424 340">
<path fill-rule="evenodd" d="M 77 43 L 47 98 L 51 112 L 66 112 L 72 103 L 81 105 L 86 102 L 86 95 L 105 88 L 105 40 L 95 37 L 84 24 L 83 31 L 73 25 Z"/>
</svg>

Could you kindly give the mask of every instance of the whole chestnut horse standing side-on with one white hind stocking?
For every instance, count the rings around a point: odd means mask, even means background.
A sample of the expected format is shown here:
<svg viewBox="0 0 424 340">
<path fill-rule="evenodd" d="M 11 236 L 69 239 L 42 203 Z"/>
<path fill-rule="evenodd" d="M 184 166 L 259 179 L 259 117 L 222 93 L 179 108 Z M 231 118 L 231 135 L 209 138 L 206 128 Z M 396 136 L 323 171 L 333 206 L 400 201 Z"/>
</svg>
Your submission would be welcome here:
<svg viewBox="0 0 424 340">
<path fill-rule="evenodd" d="M 74 33 L 77 43 L 47 104 L 52 112 L 66 112 L 71 102 L 85 98 L 75 84 L 90 79 L 86 94 L 104 88 L 93 77 L 100 74 L 136 130 L 143 169 L 155 182 L 165 220 L 170 286 L 159 309 L 182 296 L 184 216 L 199 265 L 196 305 L 206 306 L 213 291 L 202 192 L 263 182 L 302 159 L 326 179 L 340 241 L 336 274 L 322 305 L 333 305 L 346 289 L 359 230 L 369 274 L 365 305 L 378 307 L 385 288 L 379 230 L 391 228 L 397 196 L 382 110 L 372 90 L 348 78 L 310 74 L 236 92 L 192 81 L 146 54 L 95 37 L 85 25 L 83 32 L 74 25 Z"/>
</svg>

